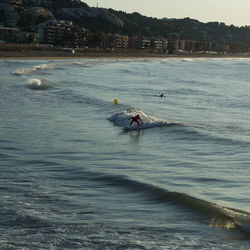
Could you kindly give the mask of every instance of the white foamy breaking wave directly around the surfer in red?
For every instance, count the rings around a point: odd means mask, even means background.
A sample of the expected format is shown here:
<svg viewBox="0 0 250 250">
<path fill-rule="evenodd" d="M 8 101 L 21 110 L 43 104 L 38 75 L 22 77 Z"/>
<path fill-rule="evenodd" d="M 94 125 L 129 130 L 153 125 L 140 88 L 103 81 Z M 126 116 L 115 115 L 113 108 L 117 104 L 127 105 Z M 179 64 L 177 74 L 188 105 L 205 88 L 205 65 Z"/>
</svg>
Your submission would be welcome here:
<svg viewBox="0 0 250 250">
<path fill-rule="evenodd" d="M 129 118 L 135 115 L 139 115 L 144 124 L 140 124 L 140 126 L 138 126 L 137 123 L 133 123 L 132 126 L 130 127 L 131 120 L 129 120 Z M 112 121 L 114 125 L 123 127 L 128 130 L 164 127 L 164 126 L 169 126 L 169 125 L 174 125 L 174 124 L 177 125 L 177 123 L 173 123 L 168 120 L 160 119 L 152 115 L 147 115 L 143 111 L 138 110 L 133 107 L 127 108 L 119 113 L 112 115 L 109 118 L 109 120 Z"/>
</svg>

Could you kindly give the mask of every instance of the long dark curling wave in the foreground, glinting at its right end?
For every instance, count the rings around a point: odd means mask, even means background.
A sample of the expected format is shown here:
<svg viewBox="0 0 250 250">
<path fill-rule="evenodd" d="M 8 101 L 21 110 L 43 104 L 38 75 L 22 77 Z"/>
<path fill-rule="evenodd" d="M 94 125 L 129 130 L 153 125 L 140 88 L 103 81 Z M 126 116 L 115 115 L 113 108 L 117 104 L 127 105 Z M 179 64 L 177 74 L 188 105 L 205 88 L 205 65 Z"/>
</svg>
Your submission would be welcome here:
<svg viewBox="0 0 250 250">
<path fill-rule="evenodd" d="M 170 203 L 183 208 L 186 213 L 193 214 L 194 218 L 197 217 L 199 221 L 207 223 L 210 227 L 238 229 L 250 233 L 250 214 L 245 211 L 227 208 L 185 193 L 173 192 L 153 184 L 128 179 L 125 176 L 100 174 L 95 180 L 130 189 L 156 202 Z"/>
</svg>

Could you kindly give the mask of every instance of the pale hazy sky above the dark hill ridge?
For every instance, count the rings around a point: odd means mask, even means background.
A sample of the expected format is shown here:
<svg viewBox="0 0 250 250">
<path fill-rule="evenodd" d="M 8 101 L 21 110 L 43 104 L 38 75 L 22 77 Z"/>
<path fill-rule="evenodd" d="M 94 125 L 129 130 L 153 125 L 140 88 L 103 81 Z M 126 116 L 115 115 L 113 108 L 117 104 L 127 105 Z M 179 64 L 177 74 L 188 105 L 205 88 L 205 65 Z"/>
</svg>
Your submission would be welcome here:
<svg viewBox="0 0 250 250">
<path fill-rule="evenodd" d="M 111 8 L 148 17 L 184 18 L 250 26 L 250 0 L 82 0 L 90 7 Z"/>
</svg>

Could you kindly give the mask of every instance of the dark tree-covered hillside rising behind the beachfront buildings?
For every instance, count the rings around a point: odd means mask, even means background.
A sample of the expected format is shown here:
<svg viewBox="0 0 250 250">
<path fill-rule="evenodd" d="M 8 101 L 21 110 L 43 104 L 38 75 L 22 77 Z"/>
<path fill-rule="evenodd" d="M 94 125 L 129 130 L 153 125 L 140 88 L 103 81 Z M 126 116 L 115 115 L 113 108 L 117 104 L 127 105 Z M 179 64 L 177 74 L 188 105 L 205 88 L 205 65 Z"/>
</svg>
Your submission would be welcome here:
<svg viewBox="0 0 250 250">
<path fill-rule="evenodd" d="M 34 9 L 37 7 L 44 11 L 40 14 L 35 13 Z M 120 33 L 129 36 L 220 43 L 248 43 L 250 38 L 250 28 L 247 26 L 228 26 L 220 22 L 202 23 L 191 18 L 157 19 L 139 13 L 91 8 L 80 0 L 2 0 L 0 3 L 0 22 L 5 27 L 30 31 L 49 19 L 70 20 L 91 32 Z"/>
</svg>

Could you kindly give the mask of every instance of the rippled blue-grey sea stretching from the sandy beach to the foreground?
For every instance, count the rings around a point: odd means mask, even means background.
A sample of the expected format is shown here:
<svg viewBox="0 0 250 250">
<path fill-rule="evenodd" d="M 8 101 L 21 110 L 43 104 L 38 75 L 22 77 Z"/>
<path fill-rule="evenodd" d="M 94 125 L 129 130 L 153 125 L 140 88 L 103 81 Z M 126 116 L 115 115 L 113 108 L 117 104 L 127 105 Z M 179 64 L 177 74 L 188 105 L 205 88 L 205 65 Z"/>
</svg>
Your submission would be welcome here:
<svg viewBox="0 0 250 250">
<path fill-rule="evenodd" d="M 0 69 L 0 249 L 250 248 L 250 59 Z"/>
</svg>

